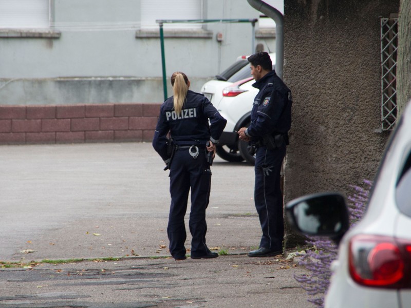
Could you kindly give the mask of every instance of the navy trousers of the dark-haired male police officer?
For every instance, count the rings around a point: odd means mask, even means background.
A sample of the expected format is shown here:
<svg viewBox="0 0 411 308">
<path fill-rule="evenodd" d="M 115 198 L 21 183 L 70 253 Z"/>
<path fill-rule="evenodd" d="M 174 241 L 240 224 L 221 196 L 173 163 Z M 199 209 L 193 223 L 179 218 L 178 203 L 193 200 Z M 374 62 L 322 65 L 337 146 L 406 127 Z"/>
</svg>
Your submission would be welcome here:
<svg viewBox="0 0 411 308">
<path fill-rule="evenodd" d="M 281 165 L 286 145 L 277 149 L 261 146 L 255 154 L 254 202 L 263 230 L 260 247 L 283 251 L 284 218 Z"/>
</svg>

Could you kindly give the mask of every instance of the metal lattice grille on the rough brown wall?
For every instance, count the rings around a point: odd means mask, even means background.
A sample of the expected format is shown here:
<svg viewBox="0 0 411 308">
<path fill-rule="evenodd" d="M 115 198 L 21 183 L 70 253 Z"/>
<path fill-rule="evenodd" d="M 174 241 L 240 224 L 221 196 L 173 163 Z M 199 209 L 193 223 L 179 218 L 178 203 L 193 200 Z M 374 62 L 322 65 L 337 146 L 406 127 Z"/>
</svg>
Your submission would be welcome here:
<svg viewBox="0 0 411 308">
<path fill-rule="evenodd" d="M 381 18 L 381 128 L 394 129 L 397 121 L 398 18 Z"/>
</svg>

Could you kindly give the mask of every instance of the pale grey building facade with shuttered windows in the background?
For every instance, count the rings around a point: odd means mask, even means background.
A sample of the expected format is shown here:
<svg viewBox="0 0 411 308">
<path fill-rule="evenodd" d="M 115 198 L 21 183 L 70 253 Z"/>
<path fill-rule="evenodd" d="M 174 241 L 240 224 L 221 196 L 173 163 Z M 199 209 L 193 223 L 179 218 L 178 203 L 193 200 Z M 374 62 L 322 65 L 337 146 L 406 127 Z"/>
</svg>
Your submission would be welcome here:
<svg viewBox="0 0 411 308">
<path fill-rule="evenodd" d="M 0 0 L 0 105 L 161 103 L 156 20 L 256 19 L 164 24 L 167 78 L 183 71 L 199 91 L 257 44 L 274 51 L 260 15 L 246 0 Z"/>
</svg>

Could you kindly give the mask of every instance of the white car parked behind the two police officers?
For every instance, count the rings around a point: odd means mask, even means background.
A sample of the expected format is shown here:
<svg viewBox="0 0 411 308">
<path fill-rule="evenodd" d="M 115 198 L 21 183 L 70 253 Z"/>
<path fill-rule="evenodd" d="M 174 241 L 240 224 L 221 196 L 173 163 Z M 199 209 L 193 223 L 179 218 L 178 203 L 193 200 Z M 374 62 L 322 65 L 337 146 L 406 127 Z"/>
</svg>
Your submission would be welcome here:
<svg viewBox="0 0 411 308">
<path fill-rule="evenodd" d="M 270 57 L 274 68 L 275 53 L 270 53 Z M 233 72 L 234 66 L 238 70 L 227 77 L 227 72 Z M 240 141 L 235 132 L 250 124 L 251 109 L 255 95 L 258 93 L 258 89 L 252 87 L 253 83 L 247 56 L 240 56 L 227 70 L 217 75 L 215 80 L 201 87 L 201 93 L 211 101 L 222 117 L 227 119 L 227 125 L 221 134 L 216 151 L 219 157 L 229 162 L 243 160 L 250 164 L 255 162 L 254 156 L 251 156 L 248 151 L 249 143 Z"/>
</svg>

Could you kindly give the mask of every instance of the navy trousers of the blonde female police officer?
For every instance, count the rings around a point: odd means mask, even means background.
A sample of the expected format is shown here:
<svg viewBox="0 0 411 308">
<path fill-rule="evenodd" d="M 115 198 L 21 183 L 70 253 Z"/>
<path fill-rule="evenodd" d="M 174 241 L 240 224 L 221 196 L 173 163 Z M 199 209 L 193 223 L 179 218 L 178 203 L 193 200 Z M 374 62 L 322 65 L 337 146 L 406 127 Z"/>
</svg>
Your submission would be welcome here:
<svg viewBox="0 0 411 308">
<path fill-rule="evenodd" d="M 194 159 L 188 148 L 177 149 L 170 168 L 171 206 L 167 235 L 170 240 L 170 253 L 173 258 L 185 256 L 186 239 L 184 216 L 191 188 L 191 211 L 189 219 L 191 255 L 208 254 L 206 246 L 206 208 L 209 204 L 211 170 L 206 160 L 206 149 L 200 148 Z"/>
</svg>

